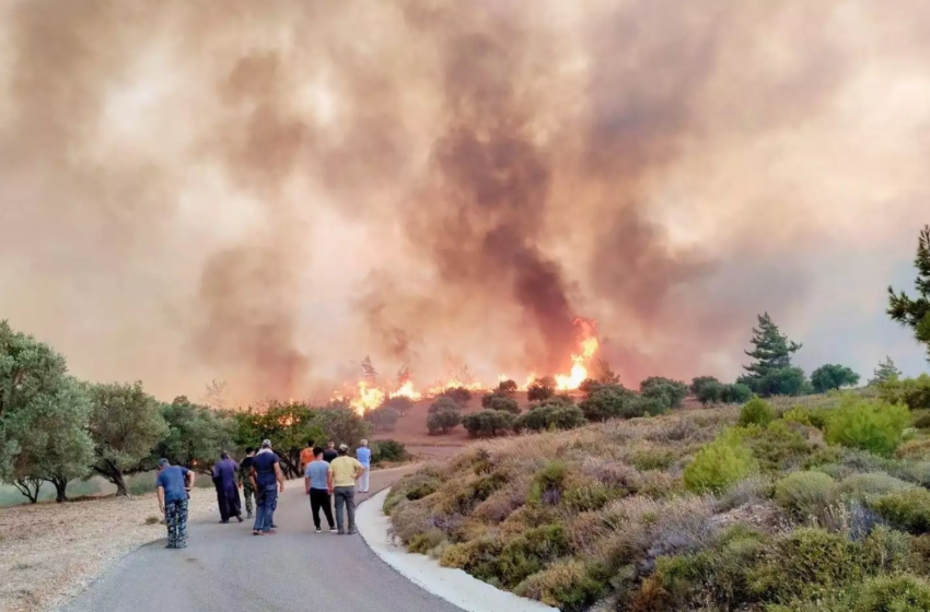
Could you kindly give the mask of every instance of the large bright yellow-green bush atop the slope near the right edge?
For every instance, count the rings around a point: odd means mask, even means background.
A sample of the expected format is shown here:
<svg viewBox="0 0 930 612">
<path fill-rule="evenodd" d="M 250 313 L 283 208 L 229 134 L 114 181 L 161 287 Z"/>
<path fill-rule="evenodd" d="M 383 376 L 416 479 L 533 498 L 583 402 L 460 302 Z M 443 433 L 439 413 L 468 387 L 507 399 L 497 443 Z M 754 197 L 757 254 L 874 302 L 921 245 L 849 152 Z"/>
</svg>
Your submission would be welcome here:
<svg viewBox="0 0 930 612">
<path fill-rule="evenodd" d="M 890 457 L 910 423 L 907 408 L 848 395 L 826 424 L 826 440 Z"/>
</svg>

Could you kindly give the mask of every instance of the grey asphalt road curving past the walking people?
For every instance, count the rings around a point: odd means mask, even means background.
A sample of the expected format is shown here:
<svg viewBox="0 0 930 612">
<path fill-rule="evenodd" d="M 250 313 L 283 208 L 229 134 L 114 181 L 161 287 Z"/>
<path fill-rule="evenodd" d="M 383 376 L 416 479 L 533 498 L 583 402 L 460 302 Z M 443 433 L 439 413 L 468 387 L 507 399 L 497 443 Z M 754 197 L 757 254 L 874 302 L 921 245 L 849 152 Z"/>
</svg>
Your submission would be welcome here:
<svg viewBox="0 0 930 612">
<path fill-rule="evenodd" d="M 371 494 L 409 470 L 372 472 Z M 63 610 L 462 612 L 397 574 L 361 537 L 314 533 L 302 481 L 286 484 L 275 522 L 278 533 L 264 537 L 252 536 L 251 521 L 189 522 L 186 549 L 143 546 Z"/>
</svg>

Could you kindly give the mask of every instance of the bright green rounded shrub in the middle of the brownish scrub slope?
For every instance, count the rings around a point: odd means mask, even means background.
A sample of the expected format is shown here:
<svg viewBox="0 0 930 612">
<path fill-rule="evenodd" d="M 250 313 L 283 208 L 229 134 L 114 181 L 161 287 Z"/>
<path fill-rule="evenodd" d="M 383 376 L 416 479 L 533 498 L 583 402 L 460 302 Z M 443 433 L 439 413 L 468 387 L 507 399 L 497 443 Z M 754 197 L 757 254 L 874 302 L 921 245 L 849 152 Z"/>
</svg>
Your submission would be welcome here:
<svg viewBox="0 0 930 612">
<path fill-rule="evenodd" d="M 720 493 L 757 469 L 752 451 L 739 437 L 726 434 L 701 448 L 685 468 L 685 486 L 695 492 Z"/>
</svg>

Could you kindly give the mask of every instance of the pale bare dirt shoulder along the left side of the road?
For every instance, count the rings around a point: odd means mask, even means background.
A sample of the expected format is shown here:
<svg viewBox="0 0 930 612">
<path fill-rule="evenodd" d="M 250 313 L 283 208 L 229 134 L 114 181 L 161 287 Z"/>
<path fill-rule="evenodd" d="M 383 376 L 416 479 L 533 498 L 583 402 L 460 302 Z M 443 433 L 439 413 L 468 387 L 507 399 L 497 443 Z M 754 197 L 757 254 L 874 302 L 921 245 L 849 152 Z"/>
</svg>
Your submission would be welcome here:
<svg viewBox="0 0 930 612">
<path fill-rule="evenodd" d="M 190 520 L 217 513 L 212 489 L 190 494 Z M 165 538 L 154 493 L 0 509 L 0 611 L 51 610 L 113 562 Z"/>
</svg>

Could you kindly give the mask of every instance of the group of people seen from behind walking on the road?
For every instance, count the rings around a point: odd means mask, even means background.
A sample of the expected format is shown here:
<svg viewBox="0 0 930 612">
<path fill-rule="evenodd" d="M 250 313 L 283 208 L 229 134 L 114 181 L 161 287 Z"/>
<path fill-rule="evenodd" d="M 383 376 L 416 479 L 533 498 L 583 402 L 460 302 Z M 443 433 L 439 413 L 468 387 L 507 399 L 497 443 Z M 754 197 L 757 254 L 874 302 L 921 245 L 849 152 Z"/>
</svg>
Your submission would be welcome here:
<svg viewBox="0 0 930 612">
<path fill-rule="evenodd" d="M 322 509 L 329 531 L 338 533 L 356 532 L 356 487 L 368 493 L 371 471 L 371 449 L 368 440 L 361 440 L 356 457 L 349 456 L 345 444 L 336 448 L 330 442 L 324 450 L 307 440 L 306 448 L 300 455 L 300 469 L 304 474 L 304 490 L 310 497 L 311 514 L 316 532 L 322 531 L 319 510 Z M 278 494 L 284 491 L 284 474 L 281 471 L 280 457 L 271 450 L 271 440 L 264 440 L 256 451 L 245 449 L 241 463 L 223 452 L 213 466 L 213 485 L 217 489 L 217 504 L 220 509 L 220 522 L 229 522 L 242 517 L 240 491 L 245 497 L 246 518 L 253 516 L 255 503 L 255 522 L 252 533 L 266 536 L 275 533 L 275 509 Z M 195 473 L 181 466 L 172 466 L 167 459 L 159 460 L 156 481 L 159 507 L 167 525 L 167 548 L 187 546 L 187 503 L 194 487 Z M 333 501 L 336 503 L 336 520 L 333 517 Z M 344 508 L 347 521 L 344 521 Z M 346 525 L 348 522 L 348 525 Z"/>
</svg>

